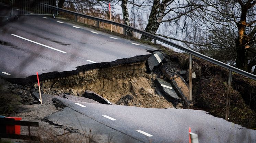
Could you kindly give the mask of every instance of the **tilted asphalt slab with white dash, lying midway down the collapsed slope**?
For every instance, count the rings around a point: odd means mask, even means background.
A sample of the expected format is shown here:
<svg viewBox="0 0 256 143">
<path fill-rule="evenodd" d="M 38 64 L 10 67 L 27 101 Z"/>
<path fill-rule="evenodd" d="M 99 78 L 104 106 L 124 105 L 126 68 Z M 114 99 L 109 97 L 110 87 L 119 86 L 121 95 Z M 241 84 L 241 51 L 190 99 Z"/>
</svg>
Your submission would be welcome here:
<svg viewBox="0 0 256 143">
<path fill-rule="evenodd" d="M 172 85 L 161 78 L 156 78 L 156 82 L 158 83 L 158 86 L 162 90 L 162 93 L 165 96 L 170 96 L 175 102 L 181 103 L 181 98 L 178 97 L 175 90 L 173 89 Z"/>
</svg>

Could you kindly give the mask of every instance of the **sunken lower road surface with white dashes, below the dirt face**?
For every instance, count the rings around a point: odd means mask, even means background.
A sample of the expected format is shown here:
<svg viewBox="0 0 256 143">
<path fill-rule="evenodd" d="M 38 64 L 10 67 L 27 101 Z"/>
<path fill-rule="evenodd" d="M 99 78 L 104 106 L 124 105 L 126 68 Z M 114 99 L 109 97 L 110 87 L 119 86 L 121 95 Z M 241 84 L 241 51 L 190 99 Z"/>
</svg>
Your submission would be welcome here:
<svg viewBox="0 0 256 143">
<path fill-rule="evenodd" d="M 57 98 L 67 108 L 50 115 L 50 121 L 85 131 L 92 128 L 94 133 L 106 137 L 112 134 L 114 142 L 185 143 L 189 127 L 198 134 L 199 143 L 256 142 L 255 130 L 213 117 L 205 111 L 137 108 Z"/>
</svg>

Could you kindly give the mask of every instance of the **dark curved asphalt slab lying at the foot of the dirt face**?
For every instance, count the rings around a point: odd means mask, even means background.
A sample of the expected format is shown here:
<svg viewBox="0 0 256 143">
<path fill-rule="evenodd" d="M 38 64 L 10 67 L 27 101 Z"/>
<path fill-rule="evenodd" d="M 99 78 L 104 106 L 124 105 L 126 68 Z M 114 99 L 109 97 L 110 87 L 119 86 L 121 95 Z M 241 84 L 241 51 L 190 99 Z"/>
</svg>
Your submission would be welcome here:
<svg viewBox="0 0 256 143">
<path fill-rule="evenodd" d="M 98 95 L 95 92 L 90 91 L 90 90 L 85 90 L 83 97 L 90 98 L 90 99 L 95 100 L 95 101 L 97 101 L 101 104 L 112 104 L 107 99 L 103 98 L 102 96 L 100 96 L 100 95 Z"/>
</svg>

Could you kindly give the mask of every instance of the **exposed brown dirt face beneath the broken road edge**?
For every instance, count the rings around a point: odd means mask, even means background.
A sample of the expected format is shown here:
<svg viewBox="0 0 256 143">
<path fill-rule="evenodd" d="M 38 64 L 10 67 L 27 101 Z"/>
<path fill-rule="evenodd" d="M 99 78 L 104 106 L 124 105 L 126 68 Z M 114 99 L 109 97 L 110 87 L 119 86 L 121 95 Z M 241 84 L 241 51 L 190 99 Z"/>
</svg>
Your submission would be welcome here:
<svg viewBox="0 0 256 143">
<path fill-rule="evenodd" d="M 145 108 L 172 108 L 172 103 L 156 94 L 155 74 L 146 73 L 145 62 L 80 72 L 65 79 L 43 83 L 46 94 L 70 93 L 82 96 L 91 90 L 120 105 Z M 125 98 L 127 95 L 133 98 Z M 131 100 L 130 100 L 131 99 Z"/>
</svg>

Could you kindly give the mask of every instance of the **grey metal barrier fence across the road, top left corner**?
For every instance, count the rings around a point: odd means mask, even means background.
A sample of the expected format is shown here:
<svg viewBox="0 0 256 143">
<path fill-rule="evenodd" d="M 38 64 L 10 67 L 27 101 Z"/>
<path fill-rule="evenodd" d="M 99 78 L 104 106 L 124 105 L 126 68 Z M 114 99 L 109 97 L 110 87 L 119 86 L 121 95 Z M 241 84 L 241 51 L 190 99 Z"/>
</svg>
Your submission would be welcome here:
<svg viewBox="0 0 256 143">
<path fill-rule="evenodd" d="M 0 17 L 21 15 L 55 15 L 58 14 L 56 0 L 0 0 Z M 49 6 L 43 6 L 46 4 Z"/>
</svg>

